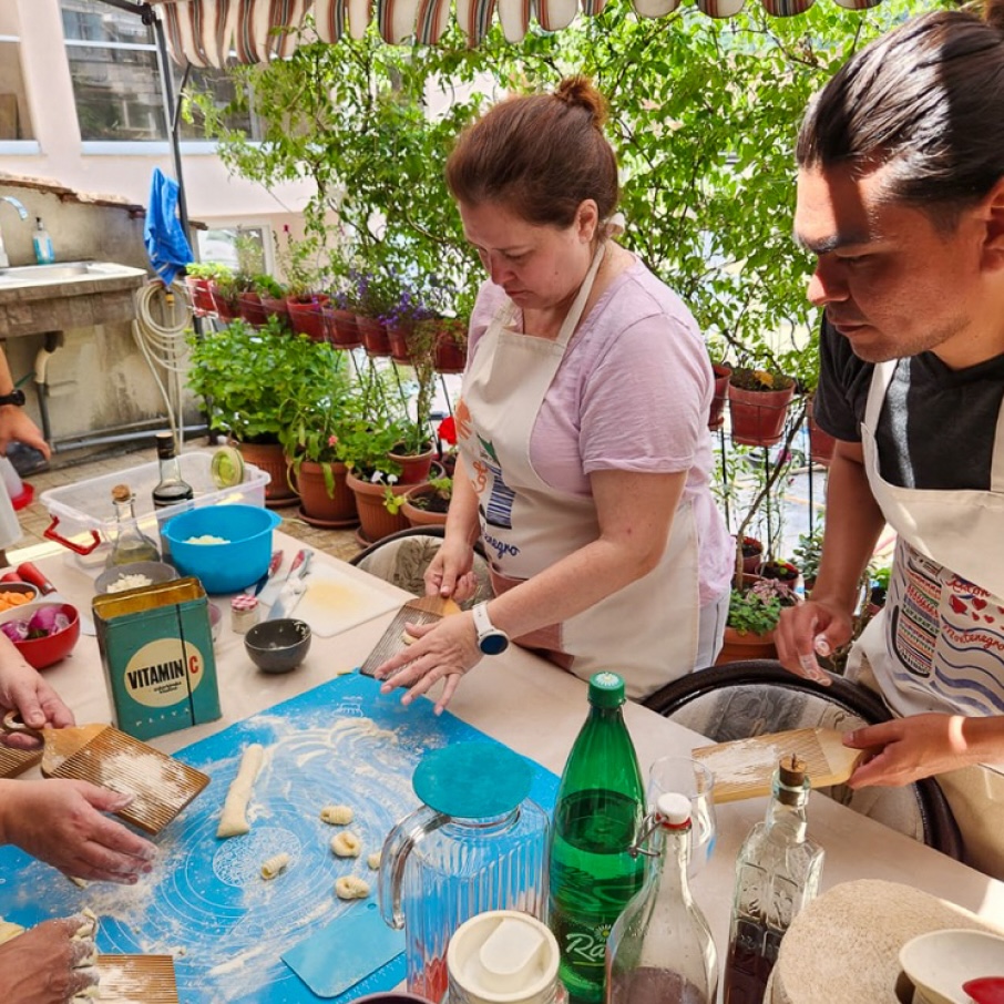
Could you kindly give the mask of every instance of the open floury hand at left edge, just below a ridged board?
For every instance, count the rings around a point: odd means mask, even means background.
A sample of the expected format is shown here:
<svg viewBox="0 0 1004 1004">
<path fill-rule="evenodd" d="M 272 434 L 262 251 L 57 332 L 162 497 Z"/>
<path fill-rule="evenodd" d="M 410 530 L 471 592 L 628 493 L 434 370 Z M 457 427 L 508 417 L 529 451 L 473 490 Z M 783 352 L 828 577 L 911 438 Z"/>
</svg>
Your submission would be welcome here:
<svg viewBox="0 0 1004 1004">
<path fill-rule="evenodd" d="M 134 885 L 150 872 L 156 848 L 103 815 L 124 809 L 132 796 L 62 778 L 0 783 L 4 843 L 79 879 Z"/>
</svg>

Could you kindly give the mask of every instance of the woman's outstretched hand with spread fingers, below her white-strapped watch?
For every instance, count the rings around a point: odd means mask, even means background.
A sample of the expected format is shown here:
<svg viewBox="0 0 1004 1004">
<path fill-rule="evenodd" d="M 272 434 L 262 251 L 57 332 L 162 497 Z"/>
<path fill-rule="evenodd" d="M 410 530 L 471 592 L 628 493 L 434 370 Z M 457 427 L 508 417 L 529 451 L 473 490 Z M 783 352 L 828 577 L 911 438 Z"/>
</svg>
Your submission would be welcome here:
<svg viewBox="0 0 1004 1004">
<path fill-rule="evenodd" d="M 401 698 L 401 704 L 407 705 L 440 679 L 445 679 L 443 691 L 436 701 L 436 714 L 441 715 L 460 678 L 482 658 L 474 618 L 470 613 L 454 614 L 443 617 L 438 624 L 409 624 L 407 631 L 417 641 L 373 673 L 377 679 L 387 680 L 380 693 L 389 694 L 396 687 L 409 687 Z"/>
</svg>

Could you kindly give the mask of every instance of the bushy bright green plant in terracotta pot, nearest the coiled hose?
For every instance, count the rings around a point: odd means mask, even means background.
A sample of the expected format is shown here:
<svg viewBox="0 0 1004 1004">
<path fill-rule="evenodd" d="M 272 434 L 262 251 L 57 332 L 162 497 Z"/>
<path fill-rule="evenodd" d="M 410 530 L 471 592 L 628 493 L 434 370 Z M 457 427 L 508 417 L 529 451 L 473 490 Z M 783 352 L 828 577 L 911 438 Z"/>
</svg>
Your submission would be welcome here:
<svg viewBox="0 0 1004 1004">
<path fill-rule="evenodd" d="M 290 402 L 309 396 L 305 373 L 313 372 L 313 344 L 290 337 L 270 317 L 262 328 L 237 319 L 218 331 L 193 335 L 189 346 L 187 385 L 205 398 L 212 428 L 227 432 L 244 459 L 270 475 L 268 504 L 295 502 L 279 437 Z"/>
</svg>

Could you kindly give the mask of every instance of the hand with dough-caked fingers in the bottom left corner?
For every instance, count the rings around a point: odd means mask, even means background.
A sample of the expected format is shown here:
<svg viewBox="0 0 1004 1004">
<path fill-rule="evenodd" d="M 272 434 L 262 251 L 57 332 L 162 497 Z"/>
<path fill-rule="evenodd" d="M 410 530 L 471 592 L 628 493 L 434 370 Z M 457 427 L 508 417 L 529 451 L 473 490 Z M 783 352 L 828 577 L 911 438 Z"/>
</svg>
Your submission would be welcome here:
<svg viewBox="0 0 1004 1004">
<path fill-rule="evenodd" d="M 98 985 L 93 957 L 93 921 L 83 914 L 45 921 L 0 945 L 0 1000 L 68 1004 Z"/>
</svg>

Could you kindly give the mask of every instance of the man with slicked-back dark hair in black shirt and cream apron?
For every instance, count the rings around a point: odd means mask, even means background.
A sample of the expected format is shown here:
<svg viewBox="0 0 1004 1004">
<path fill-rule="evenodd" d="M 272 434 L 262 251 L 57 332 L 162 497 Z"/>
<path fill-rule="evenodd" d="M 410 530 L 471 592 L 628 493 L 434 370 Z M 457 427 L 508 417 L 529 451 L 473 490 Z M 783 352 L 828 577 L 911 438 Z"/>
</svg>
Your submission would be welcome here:
<svg viewBox="0 0 1004 1004">
<path fill-rule="evenodd" d="M 816 419 L 838 439 L 820 574 L 781 660 L 851 637 L 898 533 L 884 615 L 851 665 L 895 720 L 851 787 L 938 776 L 970 863 L 1004 878 L 1004 24 L 924 14 L 854 55 L 799 135 L 796 236 L 826 309 Z"/>
</svg>

